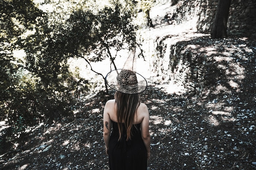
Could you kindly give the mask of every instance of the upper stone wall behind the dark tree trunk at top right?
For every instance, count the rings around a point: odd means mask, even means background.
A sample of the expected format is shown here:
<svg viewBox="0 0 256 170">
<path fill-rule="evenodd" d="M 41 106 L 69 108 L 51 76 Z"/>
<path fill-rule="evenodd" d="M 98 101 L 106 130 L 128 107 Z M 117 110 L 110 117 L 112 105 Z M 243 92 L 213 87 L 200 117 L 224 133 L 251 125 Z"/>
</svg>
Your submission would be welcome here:
<svg viewBox="0 0 256 170">
<path fill-rule="evenodd" d="M 175 6 L 175 11 L 166 13 L 163 20 L 180 24 L 196 18 L 198 32 L 210 33 L 218 0 L 180 0 L 170 4 Z M 228 34 L 256 39 L 256 0 L 232 0 L 227 27 Z"/>
</svg>

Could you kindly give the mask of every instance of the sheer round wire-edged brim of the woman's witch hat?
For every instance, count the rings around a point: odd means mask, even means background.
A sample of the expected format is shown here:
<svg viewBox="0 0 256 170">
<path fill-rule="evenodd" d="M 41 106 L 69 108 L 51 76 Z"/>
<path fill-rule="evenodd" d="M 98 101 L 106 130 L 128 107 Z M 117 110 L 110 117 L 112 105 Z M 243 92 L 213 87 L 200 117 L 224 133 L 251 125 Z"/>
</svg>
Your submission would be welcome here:
<svg viewBox="0 0 256 170">
<path fill-rule="evenodd" d="M 108 84 L 108 86 L 110 88 L 112 88 L 115 91 L 119 91 L 121 93 L 126 93 L 126 94 L 139 94 L 146 90 L 146 88 L 148 86 L 146 79 L 139 73 L 136 73 L 135 71 L 132 71 L 132 72 L 136 75 L 137 81 L 138 81 L 138 86 L 137 86 L 136 90 L 130 89 L 129 87 L 120 88 L 120 85 L 117 82 L 117 76 L 119 75 L 119 73 L 122 70 L 125 71 L 126 69 L 112 70 L 106 75 L 105 81 L 106 81 L 106 84 Z"/>
</svg>

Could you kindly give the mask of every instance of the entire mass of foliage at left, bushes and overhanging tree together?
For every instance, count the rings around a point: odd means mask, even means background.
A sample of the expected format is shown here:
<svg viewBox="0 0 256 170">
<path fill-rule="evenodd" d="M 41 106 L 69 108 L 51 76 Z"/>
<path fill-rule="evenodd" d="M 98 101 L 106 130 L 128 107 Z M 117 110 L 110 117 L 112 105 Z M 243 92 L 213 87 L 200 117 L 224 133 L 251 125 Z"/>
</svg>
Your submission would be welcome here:
<svg viewBox="0 0 256 170">
<path fill-rule="evenodd" d="M 90 64 L 110 58 L 114 64 L 110 51 L 135 46 L 127 7 L 111 2 L 96 11 L 73 8 L 65 11 L 68 19 L 54 20 L 58 13 L 49 15 L 31 0 L 0 2 L 0 121 L 11 126 L 5 137 L 10 140 L 0 140 L 11 141 L 38 122 L 72 116 L 90 84 L 69 72 L 68 60 L 81 57 Z"/>
</svg>

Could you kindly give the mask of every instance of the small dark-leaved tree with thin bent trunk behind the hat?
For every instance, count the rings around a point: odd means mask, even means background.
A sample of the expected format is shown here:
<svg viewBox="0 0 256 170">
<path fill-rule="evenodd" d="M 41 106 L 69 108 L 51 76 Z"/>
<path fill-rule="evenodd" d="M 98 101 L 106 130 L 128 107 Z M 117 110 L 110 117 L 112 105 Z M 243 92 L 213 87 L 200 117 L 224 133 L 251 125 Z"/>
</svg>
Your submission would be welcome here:
<svg viewBox="0 0 256 170">
<path fill-rule="evenodd" d="M 99 62 L 110 59 L 110 68 L 115 65 L 117 52 L 123 49 L 132 49 L 136 46 L 137 29 L 132 24 L 132 12 L 123 9 L 122 5 L 114 2 L 112 7 L 104 7 L 96 14 L 90 10 L 75 11 L 67 20 L 69 29 L 66 30 L 65 42 L 67 42 L 67 54 L 70 57 L 83 58 L 94 73 L 91 62 Z M 115 53 L 111 53 L 115 51 Z M 104 81 L 105 82 L 105 81 Z M 105 82 L 106 93 L 108 87 Z"/>
</svg>

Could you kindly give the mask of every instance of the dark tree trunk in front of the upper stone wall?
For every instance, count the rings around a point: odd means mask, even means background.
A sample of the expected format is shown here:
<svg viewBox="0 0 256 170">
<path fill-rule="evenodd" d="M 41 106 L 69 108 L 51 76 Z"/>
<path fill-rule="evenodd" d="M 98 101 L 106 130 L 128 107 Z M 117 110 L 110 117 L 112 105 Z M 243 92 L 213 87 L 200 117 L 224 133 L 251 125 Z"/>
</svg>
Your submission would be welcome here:
<svg viewBox="0 0 256 170">
<path fill-rule="evenodd" d="M 211 38 L 227 38 L 227 20 L 231 0 L 219 0 Z"/>
</svg>

